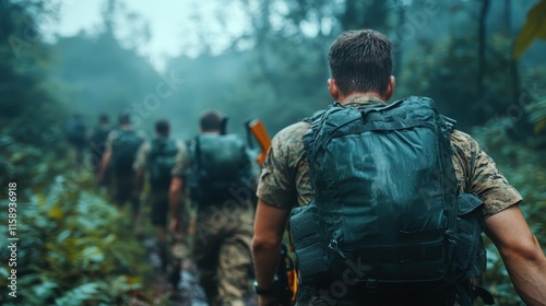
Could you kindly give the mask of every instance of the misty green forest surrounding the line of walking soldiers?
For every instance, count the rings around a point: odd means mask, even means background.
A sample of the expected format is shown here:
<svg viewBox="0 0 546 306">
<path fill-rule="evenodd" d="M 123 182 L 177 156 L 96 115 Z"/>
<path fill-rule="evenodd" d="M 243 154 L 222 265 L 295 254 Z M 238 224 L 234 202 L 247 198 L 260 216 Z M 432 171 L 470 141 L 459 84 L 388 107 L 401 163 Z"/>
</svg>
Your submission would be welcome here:
<svg viewBox="0 0 546 306">
<path fill-rule="evenodd" d="M 146 20 L 120 1 L 105 0 L 94 31 L 46 39 L 40 23 L 58 19 L 59 3 L 0 1 L 0 239 L 9 181 L 17 185 L 20 237 L 20 296 L 5 301 L 2 248 L 0 304 L 157 304 L 142 247 L 123 229 L 127 212 L 96 191 L 91 170 L 71 163 L 63 127 L 72 114 L 92 128 L 100 113 L 115 121 L 129 110 L 149 137 L 155 120 L 167 118 L 187 140 L 199 115 L 216 108 L 232 132 L 260 118 L 273 136 L 332 102 L 327 52 L 349 28 L 376 28 L 393 40 L 393 99 L 430 96 L 475 136 L 523 195 L 546 247 L 546 1 L 216 0 L 206 16 L 186 21 L 193 32 L 173 28 L 181 51 L 161 71 L 136 50 L 151 38 Z M 248 26 L 213 31 L 234 17 L 230 5 Z M 490 244 L 483 282 L 498 305 L 522 304 Z"/>
</svg>

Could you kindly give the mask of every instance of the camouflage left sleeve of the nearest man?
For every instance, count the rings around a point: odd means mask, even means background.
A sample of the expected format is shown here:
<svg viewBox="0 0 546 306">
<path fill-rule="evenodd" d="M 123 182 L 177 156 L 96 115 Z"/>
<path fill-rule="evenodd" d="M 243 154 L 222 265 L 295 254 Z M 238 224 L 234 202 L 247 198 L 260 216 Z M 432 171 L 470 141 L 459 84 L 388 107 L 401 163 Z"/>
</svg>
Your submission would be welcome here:
<svg viewBox="0 0 546 306">
<path fill-rule="evenodd" d="M 258 198 L 265 203 L 281 209 L 298 203 L 296 176 L 304 154 L 301 137 L 307 129 L 307 123 L 295 123 L 271 141 L 257 190 Z"/>
</svg>

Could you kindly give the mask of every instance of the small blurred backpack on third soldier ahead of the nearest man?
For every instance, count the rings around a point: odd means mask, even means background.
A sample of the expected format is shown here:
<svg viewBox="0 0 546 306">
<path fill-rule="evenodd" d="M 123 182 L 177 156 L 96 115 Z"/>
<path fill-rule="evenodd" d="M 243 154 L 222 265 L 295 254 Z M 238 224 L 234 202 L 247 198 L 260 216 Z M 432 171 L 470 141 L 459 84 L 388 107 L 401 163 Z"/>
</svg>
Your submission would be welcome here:
<svg viewBox="0 0 546 306">
<path fill-rule="evenodd" d="M 136 151 L 144 139 L 133 130 L 117 130 L 111 143 L 111 169 L 117 175 L 130 175 Z"/>
</svg>

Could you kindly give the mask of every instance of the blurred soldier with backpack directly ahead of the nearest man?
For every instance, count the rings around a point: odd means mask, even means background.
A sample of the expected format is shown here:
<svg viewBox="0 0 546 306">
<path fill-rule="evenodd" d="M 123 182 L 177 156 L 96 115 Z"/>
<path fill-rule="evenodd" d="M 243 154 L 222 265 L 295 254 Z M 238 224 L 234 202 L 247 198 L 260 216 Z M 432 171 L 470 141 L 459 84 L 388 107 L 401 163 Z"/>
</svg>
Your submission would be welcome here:
<svg viewBox="0 0 546 306">
<path fill-rule="evenodd" d="M 252 268 L 256 167 L 246 142 L 225 133 L 225 122 L 217 111 L 203 114 L 189 154 L 177 158 L 170 228 L 181 236 L 180 197 L 189 197 L 197 209 L 193 260 L 209 305 L 242 306 Z"/>
</svg>

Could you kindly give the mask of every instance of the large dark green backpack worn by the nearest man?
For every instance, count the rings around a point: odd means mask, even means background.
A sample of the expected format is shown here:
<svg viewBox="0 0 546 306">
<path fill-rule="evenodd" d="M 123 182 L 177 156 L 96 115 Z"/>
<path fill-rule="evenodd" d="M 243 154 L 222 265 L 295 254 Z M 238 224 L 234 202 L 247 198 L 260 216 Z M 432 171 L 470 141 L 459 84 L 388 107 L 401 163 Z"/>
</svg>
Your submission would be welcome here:
<svg viewBox="0 0 546 306">
<path fill-rule="evenodd" d="M 415 96 L 361 108 L 335 103 L 309 121 L 314 199 L 289 221 L 299 284 L 349 278 L 359 294 L 429 289 L 447 292 L 446 305 L 455 294 L 471 305 L 470 279 L 486 266 L 483 202 L 458 191 L 454 121 Z"/>
</svg>

